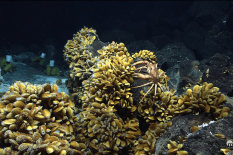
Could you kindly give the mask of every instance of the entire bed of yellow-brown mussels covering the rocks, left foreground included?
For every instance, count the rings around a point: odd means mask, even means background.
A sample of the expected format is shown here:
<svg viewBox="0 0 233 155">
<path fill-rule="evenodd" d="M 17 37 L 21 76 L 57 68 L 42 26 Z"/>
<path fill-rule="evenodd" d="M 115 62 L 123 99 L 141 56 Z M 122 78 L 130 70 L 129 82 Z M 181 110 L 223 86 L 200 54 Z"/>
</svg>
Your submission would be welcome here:
<svg viewBox="0 0 233 155">
<path fill-rule="evenodd" d="M 176 115 L 203 111 L 216 119 L 228 115 L 229 108 L 223 107 L 226 98 L 213 84 L 196 85 L 176 96 L 165 88 L 166 75 L 159 79 L 164 91 L 158 87 L 154 95 L 151 90 L 135 104 L 132 64 L 137 58 L 156 64 L 154 53 L 142 50 L 131 57 L 123 43 L 112 42 L 92 57 L 87 47 L 96 37 L 95 30 L 84 27 L 65 45 L 71 97 L 59 93 L 57 85 L 16 82 L 9 87 L 0 100 L 0 140 L 5 143 L 0 154 L 152 155 L 156 140 Z M 80 103 L 82 110 L 75 115 L 75 104 Z M 145 133 L 137 114 L 150 125 Z M 181 150 L 183 142 L 180 137 L 179 144 L 170 141 L 168 154 L 187 154 Z"/>
</svg>

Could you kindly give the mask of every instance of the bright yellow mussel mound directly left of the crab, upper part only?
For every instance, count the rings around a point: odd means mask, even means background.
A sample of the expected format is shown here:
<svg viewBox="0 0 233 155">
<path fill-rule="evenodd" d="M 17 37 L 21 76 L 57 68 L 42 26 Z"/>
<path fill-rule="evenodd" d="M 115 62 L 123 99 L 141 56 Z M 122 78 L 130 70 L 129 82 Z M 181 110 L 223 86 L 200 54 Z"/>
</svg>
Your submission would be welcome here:
<svg viewBox="0 0 233 155">
<path fill-rule="evenodd" d="M 128 108 L 135 111 L 132 93 L 130 92 L 132 75 L 135 67 L 131 67 L 133 59 L 123 43 L 112 42 L 98 51 L 101 55 L 93 74 L 83 81 L 83 108 L 93 102 L 105 103 L 115 109 Z"/>
</svg>

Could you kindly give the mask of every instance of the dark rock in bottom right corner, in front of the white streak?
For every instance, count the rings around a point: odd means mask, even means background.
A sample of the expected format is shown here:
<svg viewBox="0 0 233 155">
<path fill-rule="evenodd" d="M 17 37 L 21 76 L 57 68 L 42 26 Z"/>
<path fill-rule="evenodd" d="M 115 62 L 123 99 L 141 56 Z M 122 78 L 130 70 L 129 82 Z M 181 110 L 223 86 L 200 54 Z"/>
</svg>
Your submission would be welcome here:
<svg viewBox="0 0 233 155">
<path fill-rule="evenodd" d="M 233 117 L 227 116 L 210 124 L 207 127 L 201 128 L 192 133 L 184 143 L 182 150 L 189 152 L 189 155 L 205 154 L 219 155 L 221 148 L 227 148 L 226 139 L 217 138 L 214 134 L 223 134 L 227 139 L 232 139 Z"/>
</svg>

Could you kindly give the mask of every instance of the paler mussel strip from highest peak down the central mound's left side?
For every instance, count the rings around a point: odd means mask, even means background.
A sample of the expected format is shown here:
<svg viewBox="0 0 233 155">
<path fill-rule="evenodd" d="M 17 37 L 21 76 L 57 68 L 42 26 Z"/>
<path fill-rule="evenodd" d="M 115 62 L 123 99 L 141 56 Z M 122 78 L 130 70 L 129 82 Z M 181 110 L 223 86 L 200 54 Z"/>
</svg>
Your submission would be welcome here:
<svg viewBox="0 0 233 155">
<path fill-rule="evenodd" d="M 87 49 L 98 35 L 92 28 L 84 27 L 77 34 L 74 34 L 72 40 L 68 40 L 64 47 L 64 60 L 69 64 L 70 74 L 66 86 L 70 92 L 71 100 L 81 107 L 81 97 L 83 96 L 82 81 L 91 75 L 91 67 L 95 63 L 92 53 Z"/>
</svg>

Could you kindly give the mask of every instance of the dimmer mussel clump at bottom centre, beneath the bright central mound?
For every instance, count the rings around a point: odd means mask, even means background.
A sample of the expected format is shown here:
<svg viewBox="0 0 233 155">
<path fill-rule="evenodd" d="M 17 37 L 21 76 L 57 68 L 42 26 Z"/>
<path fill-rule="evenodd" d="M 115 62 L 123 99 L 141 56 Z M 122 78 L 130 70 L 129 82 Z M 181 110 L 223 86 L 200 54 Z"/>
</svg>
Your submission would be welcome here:
<svg viewBox="0 0 233 155">
<path fill-rule="evenodd" d="M 124 148 L 131 150 L 141 135 L 136 118 L 124 122 L 112 106 L 103 103 L 93 103 L 80 117 L 76 133 L 88 139 L 87 147 L 95 154 L 118 154 Z"/>
</svg>

